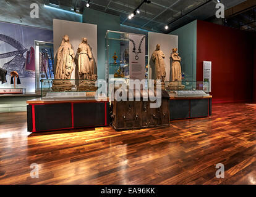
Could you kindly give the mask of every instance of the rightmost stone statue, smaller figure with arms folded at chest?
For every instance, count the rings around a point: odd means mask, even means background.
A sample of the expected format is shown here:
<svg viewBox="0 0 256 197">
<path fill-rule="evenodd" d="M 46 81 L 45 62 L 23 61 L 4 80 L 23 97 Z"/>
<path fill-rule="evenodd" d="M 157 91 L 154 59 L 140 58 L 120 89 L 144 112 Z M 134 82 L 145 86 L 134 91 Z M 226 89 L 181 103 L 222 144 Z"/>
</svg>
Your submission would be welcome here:
<svg viewBox="0 0 256 197">
<path fill-rule="evenodd" d="M 181 74 L 181 57 L 177 53 L 177 49 L 174 48 L 171 54 L 171 58 L 173 63 L 171 65 L 171 80 L 172 81 L 182 81 L 182 74 Z"/>
</svg>

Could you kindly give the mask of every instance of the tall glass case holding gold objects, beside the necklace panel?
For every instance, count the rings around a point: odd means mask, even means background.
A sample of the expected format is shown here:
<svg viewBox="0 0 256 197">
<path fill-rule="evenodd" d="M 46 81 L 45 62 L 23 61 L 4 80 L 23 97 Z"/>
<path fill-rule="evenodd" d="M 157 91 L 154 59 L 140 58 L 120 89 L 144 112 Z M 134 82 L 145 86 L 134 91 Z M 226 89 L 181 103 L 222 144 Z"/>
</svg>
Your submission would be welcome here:
<svg viewBox="0 0 256 197">
<path fill-rule="evenodd" d="M 115 81 L 129 84 L 129 35 L 119 31 L 107 31 L 105 36 L 105 79 L 109 84 Z M 138 44 L 139 45 L 139 44 Z M 145 70 L 147 71 L 147 56 Z M 147 79 L 145 73 L 145 79 Z"/>
</svg>

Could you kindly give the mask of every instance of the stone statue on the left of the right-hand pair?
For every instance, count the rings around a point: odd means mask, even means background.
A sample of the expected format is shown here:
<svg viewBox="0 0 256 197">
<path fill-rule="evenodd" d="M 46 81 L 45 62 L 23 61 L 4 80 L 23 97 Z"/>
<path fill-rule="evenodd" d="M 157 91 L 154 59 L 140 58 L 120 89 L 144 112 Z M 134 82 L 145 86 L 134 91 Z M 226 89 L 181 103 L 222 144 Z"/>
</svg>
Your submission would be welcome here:
<svg viewBox="0 0 256 197">
<path fill-rule="evenodd" d="M 165 56 L 163 54 L 163 51 L 160 50 L 160 44 L 156 45 L 156 50 L 153 52 L 152 60 L 155 62 L 155 68 L 156 68 L 156 79 L 160 79 L 161 82 L 164 82 L 164 79 L 166 77 L 165 73 L 165 63 L 164 59 Z"/>
</svg>

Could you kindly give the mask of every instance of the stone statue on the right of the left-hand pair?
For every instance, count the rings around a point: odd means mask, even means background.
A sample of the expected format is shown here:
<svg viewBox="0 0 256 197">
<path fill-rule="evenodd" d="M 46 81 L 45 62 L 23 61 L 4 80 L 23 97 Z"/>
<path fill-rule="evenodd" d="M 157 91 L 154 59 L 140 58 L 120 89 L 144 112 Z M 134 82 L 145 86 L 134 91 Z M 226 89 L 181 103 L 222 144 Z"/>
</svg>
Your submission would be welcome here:
<svg viewBox="0 0 256 197">
<path fill-rule="evenodd" d="M 94 61 L 90 46 L 87 44 L 87 38 L 82 38 L 82 42 L 77 49 L 77 54 L 79 54 L 78 66 L 80 79 L 95 80 Z"/>
</svg>

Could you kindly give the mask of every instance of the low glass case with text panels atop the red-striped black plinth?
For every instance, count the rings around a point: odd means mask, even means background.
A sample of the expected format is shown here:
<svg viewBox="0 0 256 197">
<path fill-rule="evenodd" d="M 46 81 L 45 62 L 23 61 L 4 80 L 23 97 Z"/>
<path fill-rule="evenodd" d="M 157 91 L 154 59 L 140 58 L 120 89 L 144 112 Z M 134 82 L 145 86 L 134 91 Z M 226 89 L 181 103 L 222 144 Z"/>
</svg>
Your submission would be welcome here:
<svg viewBox="0 0 256 197">
<path fill-rule="evenodd" d="M 42 100 L 86 100 L 106 98 L 106 94 L 95 95 L 98 87 L 94 80 L 41 79 L 40 87 Z"/>
</svg>

